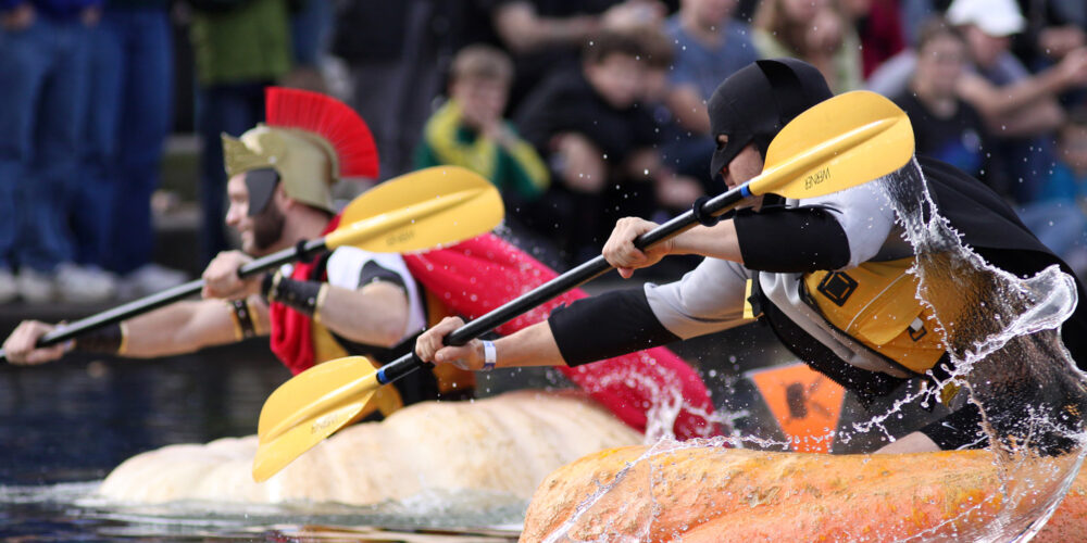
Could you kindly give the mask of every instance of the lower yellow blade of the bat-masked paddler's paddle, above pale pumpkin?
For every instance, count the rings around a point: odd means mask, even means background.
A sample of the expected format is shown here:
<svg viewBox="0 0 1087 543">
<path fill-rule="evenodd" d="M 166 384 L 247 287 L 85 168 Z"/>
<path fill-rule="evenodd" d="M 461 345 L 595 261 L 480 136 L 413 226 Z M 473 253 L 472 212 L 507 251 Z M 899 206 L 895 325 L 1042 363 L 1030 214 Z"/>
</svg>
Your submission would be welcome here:
<svg viewBox="0 0 1087 543">
<path fill-rule="evenodd" d="M 263 481 L 360 415 L 380 389 L 377 370 L 364 356 L 318 364 L 283 383 L 268 396 L 257 426 L 253 479 Z"/>
</svg>

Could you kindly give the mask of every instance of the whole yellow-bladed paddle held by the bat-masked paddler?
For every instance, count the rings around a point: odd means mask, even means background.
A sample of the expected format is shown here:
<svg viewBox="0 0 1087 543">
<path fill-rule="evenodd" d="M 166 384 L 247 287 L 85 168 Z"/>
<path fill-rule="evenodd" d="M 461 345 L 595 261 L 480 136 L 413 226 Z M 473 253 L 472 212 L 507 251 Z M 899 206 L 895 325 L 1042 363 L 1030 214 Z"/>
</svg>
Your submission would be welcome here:
<svg viewBox="0 0 1087 543">
<path fill-rule="evenodd" d="M 873 92 L 841 94 L 786 125 L 771 142 L 761 175 L 639 236 L 635 245 L 645 249 L 675 237 L 695 227 L 698 216 L 717 217 L 753 197 L 805 199 L 862 185 L 902 167 L 912 155 L 913 129 L 901 110 Z M 597 256 L 466 324 L 446 342 L 464 344 L 610 269 Z M 261 411 L 253 479 L 272 477 L 357 418 L 382 386 L 426 365 L 412 353 L 375 371 L 365 359 L 346 357 L 290 379 Z"/>
</svg>

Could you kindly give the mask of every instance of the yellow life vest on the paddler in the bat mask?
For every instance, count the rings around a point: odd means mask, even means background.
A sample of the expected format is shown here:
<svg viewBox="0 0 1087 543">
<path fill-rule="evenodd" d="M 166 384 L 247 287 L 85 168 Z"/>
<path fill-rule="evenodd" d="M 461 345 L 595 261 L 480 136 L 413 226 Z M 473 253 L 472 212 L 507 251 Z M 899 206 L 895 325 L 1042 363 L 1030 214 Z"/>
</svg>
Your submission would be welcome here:
<svg viewBox="0 0 1087 543">
<path fill-rule="evenodd" d="M 944 356 L 930 307 L 916 298 L 913 257 L 866 262 L 845 272 L 804 274 L 809 300 L 835 328 L 902 366 L 924 374 Z"/>
</svg>

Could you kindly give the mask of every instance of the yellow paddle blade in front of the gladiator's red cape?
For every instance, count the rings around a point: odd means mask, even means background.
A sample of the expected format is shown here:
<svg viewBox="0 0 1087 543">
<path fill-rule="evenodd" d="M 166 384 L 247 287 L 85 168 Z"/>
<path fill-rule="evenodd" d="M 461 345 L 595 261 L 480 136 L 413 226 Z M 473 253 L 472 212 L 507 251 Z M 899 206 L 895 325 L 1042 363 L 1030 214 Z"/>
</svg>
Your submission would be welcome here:
<svg viewBox="0 0 1087 543">
<path fill-rule="evenodd" d="M 459 166 L 435 166 L 364 192 L 343 210 L 325 244 L 375 253 L 421 251 L 489 231 L 503 213 L 502 198 L 487 179 Z"/>
</svg>

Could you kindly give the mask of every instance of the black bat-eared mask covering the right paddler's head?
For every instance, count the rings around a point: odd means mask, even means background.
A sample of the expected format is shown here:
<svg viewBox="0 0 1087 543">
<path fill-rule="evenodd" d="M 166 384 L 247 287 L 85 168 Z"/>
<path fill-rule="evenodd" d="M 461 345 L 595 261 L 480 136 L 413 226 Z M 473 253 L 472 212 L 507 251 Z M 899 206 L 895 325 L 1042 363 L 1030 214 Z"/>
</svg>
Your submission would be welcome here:
<svg viewBox="0 0 1087 543">
<path fill-rule="evenodd" d="M 714 140 L 728 137 L 713 152 L 710 175 L 720 174 L 748 143 L 765 159 L 770 142 L 789 121 L 832 96 L 819 70 L 796 59 L 761 60 L 737 71 L 707 104 Z"/>
</svg>

